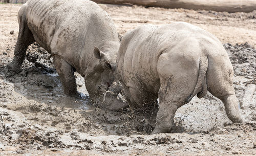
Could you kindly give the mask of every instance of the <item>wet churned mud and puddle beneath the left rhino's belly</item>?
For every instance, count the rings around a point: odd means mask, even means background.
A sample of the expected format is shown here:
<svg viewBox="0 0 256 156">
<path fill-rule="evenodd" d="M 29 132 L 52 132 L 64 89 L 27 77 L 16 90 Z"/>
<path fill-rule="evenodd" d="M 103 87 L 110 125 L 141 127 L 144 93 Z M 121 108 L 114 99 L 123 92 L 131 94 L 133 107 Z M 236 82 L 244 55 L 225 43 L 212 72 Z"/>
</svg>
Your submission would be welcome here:
<svg viewBox="0 0 256 156">
<path fill-rule="evenodd" d="M 36 42 L 31 44 L 27 51 L 25 63 L 22 65 L 24 70 L 18 74 L 8 73 L 6 75 L 7 80 L 14 83 L 15 92 L 29 100 L 33 99 L 51 106 L 80 110 L 94 108 L 90 103 L 83 77 L 75 73 L 80 98 L 68 97 L 63 94 L 62 85 L 54 69 L 51 55 Z M 3 68 L 3 71 L 8 71 L 8 69 Z"/>
</svg>

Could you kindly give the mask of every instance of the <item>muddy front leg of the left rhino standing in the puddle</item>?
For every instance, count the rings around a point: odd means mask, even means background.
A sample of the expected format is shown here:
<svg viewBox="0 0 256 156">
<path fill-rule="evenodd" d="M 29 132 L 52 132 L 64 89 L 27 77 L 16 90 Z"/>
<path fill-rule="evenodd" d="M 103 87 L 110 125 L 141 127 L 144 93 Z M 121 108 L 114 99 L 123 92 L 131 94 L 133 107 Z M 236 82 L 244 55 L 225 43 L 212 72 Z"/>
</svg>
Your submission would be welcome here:
<svg viewBox="0 0 256 156">
<path fill-rule="evenodd" d="M 54 66 L 60 77 L 63 86 L 64 94 L 69 96 L 76 96 L 76 79 L 74 76 L 74 68 L 67 61 L 59 56 L 53 56 Z"/>
</svg>

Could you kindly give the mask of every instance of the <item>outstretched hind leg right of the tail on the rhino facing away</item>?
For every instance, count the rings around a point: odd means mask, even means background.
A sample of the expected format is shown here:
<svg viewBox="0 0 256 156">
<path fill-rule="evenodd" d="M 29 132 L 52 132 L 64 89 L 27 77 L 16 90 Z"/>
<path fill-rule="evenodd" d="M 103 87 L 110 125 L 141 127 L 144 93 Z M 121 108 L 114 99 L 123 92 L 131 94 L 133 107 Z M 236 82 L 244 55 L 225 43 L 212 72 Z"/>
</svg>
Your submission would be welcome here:
<svg viewBox="0 0 256 156">
<path fill-rule="evenodd" d="M 232 65 L 227 60 L 222 61 L 226 63 L 224 65 L 217 63 L 220 59 L 210 60 L 213 66 L 209 66 L 206 73 L 208 91 L 222 100 L 227 117 L 232 122 L 244 123 L 239 112 L 238 99 L 234 93 Z"/>
</svg>

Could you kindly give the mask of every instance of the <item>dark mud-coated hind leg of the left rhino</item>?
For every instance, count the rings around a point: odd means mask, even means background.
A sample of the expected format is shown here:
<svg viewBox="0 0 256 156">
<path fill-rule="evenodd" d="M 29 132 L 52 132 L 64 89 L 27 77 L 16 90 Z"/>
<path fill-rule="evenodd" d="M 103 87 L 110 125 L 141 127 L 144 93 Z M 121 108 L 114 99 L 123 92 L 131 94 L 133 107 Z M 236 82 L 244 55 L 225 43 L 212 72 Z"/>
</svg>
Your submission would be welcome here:
<svg viewBox="0 0 256 156">
<path fill-rule="evenodd" d="M 20 66 L 25 60 L 26 51 L 28 46 L 33 43 L 34 37 L 32 32 L 29 30 L 26 17 L 25 17 L 26 6 L 22 6 L 18 12 L 18 21 L 19 21 L 19 32 L 17 43 L 14 50 L 14 58 L 9 64 L 10 68 L 19 71 Z"/>
</svg>

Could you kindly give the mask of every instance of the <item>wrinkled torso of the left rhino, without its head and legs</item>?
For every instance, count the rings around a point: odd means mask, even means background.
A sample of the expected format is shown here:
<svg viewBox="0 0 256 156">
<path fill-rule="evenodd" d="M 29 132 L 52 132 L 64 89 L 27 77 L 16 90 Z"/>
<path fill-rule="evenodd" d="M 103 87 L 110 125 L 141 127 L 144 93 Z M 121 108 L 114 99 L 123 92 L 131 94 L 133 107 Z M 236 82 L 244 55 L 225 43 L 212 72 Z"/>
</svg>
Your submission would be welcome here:
<svg viewBox="0 0 256 156">
<path fill-rule="evenodd" d="M 77 70 L 80 60 L 96 60 L 93 49 L 99 42 L 118 40 L 109 15 L 94 2 L 30 0 L 27 4 L 26 19 L 35 40 Z"/>
</svg>

